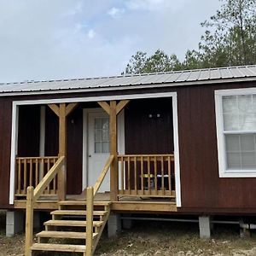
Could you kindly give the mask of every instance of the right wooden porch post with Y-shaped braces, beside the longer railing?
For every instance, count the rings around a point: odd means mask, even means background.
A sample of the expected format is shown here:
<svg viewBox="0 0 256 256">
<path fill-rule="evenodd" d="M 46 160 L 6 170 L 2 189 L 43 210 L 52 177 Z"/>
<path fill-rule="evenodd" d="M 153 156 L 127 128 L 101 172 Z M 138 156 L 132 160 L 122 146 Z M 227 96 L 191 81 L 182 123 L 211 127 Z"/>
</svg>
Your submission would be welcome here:
<svg viewBox="0 0 256 256">
<path fill-rule="evenodd" d="M 98 104 L 109 114 L 109 138 L 110 154 L 113 154 L 113 162 L 110 166 L 110 201 L 118 201 L 119 170 L 118 170 L 118 142 L 117 142 L 117 116 L 125 108 L 129 100 L 98 102 Z"/>
</svg>

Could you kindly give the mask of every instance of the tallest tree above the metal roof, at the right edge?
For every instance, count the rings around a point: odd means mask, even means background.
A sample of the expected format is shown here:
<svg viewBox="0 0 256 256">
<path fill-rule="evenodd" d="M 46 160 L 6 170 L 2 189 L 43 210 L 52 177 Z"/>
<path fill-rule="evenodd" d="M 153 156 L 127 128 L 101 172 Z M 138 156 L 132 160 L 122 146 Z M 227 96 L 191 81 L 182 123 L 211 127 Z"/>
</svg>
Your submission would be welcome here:
<svg viewBox="0 0 256 256">
<path fill-rule="evenodd" d="M 256 62 L 256 0 L 221 0 L 221 9 L 201 23 L 207 31 L 199 50 L 204 67 Z"/>
</svg>

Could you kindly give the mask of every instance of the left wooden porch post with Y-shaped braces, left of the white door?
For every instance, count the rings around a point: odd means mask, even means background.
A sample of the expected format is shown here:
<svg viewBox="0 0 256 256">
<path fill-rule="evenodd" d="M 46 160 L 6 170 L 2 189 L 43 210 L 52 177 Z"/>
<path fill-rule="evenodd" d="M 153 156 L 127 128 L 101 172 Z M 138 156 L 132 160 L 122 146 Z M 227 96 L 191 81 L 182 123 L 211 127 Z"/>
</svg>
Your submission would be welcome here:
<svg viewBox="0 0 256 256">
<path fill-rule="evenodd" d="M 49 108 L 59 117 L 59 157 L 64 156 L 65 162 L 58 173 L 58 199 L 66 200 L 67 195 L 67 115 L 78 106 L 78 103 L 61 103 L 60 106 L 49 104 Z"/>
</svg>

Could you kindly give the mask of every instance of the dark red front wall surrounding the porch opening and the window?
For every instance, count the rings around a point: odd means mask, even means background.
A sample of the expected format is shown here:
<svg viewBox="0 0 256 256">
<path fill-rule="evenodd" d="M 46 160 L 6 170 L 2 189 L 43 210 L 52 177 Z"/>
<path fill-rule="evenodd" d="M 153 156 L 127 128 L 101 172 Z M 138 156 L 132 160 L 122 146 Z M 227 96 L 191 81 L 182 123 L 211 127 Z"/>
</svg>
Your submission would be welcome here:
<svg viewBox="0 0 256 256">
<path fill-rule="evenodd" d="M 182 187 L 182 207 L 179 209 L 179 212 L 256 212 L 256 201 L 254 200 L 254 195 L 256 195 L 256 178 L 218 177 L 214 90 L 242 87 L 256 87 L 256 83 L 253 84 L 252 82 L 247 82 L 243 84 L 180 86 L 169 89 L 159 89 L 156 86 L 156 88 L 148 90 L 126 90 L 117 92 L 117 94 L 120 95 L 125 93 L 131 94 L 131 92 L 150 93 L 177 91 L 178 136 Z M 104 92 L 104 96 L 111 94 L 113 94 L 113 92 Z M 63 98 L 102 95 L 103 93 L 99 92 L 94 94 L 61 94 L 57 96 Z M 9 157 L 12 100 L 35 100 L 39 98 L 56 98 L 56 95 L 41 97 L 16 96 L 13 98 L 0 97 L 0 208 L 9 207 Z M 172 107 L 170 106 L 170 108 Z M 79 108 L 73 114 L 74 116 L 71 115 L 69 120 L 73 118 L 75 123 L 76 120 L 79 119 Z M 71 136 L 70 138 L 67 138 L 67 143 L 71 143 L 72 146 L 70 147 L 73 148 L 75 145 L 79 145 L 78 140 L 80 131 L 78 132 L 78 135 L 76 135 L 75 129 L 72 128 L 72 123 L 69 123 L 68 121 L 67 125 L 68 132 Z M 49 129 L 49 133 L 50 132 L 51 129 Z M 125 132 L 128 131 L 126 130 Z M 128 151 L 131 153 L 131 146 L 134 142 L 130 143 L 130 146 L 129 140 L 125 143 L 125 150 L 127 149 L 126 153 L 128 153 Z M 71 165 L 74 165 L 74 163 L 75 160 L 72 161 Z M 76 166 L 75 168 L 78 167 Z M 72 174 L 70 175 L 72 176 Z M 71 178 L 71 176 L 69 178 Z M 73 177 L 75 177 L 75 175 L 73 175 Z M 79 174 L 77 177 L 79 178 Z"/>
</svg>

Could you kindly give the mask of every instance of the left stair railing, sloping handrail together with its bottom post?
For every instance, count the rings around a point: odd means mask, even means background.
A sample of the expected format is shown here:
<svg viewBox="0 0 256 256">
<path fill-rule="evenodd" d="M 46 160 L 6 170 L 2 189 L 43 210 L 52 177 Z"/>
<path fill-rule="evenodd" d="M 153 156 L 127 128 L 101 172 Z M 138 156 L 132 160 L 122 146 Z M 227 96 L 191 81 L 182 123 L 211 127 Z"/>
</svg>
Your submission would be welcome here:
<svg viewBox="0 0 256 256">
<path fill-rule="evenodd" d="M 49 172 L 42 178 L 34 189 L 32 186 L 26 189 L 26 238 L 25 238 L 25 255 L 32 255 L 31 247 L 33 241 L 33 207 L 40 195 L 43 195 L 44 190 L 49 187 L 49 184 L 56 177 L 61 168 L 64 167 L 65 157 L 61 156 L 49 169 Z"/>
</svg>

